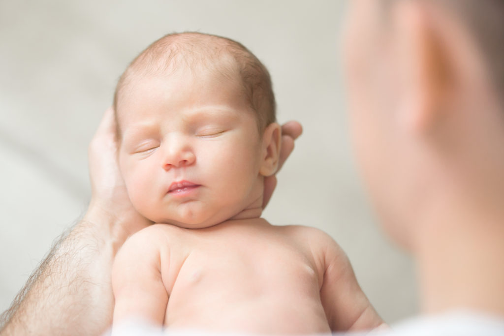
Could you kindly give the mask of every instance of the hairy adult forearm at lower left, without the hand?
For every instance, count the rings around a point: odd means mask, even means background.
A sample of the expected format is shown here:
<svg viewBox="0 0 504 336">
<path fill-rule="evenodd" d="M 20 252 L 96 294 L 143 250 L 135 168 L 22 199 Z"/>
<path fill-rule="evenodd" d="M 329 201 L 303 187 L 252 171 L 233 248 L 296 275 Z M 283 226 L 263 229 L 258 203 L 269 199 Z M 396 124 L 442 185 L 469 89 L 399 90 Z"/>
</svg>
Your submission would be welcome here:
<svg viewBox="0 0 504 336">
<path fill-rule="evenodd" d="M 110 268 L 125 239 L 112 221 L 88 214 L 59 239 L 3 314 L 2 335 L 93 335 L 110 325 Z"/>
</svg>

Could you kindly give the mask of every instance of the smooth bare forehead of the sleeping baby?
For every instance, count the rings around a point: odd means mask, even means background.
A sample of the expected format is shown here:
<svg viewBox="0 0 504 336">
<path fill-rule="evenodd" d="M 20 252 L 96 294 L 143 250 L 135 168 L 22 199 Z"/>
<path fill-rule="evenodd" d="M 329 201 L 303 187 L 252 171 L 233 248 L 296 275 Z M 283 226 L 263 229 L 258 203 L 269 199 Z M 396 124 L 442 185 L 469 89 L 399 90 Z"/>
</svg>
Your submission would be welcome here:
<svg viewBox="0 0 504 336">
<path fill-rule="evenodd" d="M 152 120 L 182 118 L 187 124 L 203 124 L 229 121 L 233 116 L 247 114 L 256 126 L 257 113 L 243 90 L 241 79 L 236 77 L 207 70 L 178 70 L 169 76 L 132 79 L 117 99 L 116 121 L 125 130 L 153 124 Z"/>
</svg>

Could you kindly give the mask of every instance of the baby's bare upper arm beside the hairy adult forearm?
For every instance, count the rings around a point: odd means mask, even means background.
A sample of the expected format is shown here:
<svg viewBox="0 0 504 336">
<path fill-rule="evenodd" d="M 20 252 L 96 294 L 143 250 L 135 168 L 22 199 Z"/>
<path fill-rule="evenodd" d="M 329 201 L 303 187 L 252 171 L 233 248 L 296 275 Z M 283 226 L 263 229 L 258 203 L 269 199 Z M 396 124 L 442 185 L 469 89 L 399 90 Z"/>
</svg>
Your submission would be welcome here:
<svg viewBox="0 0 504 336">
<path fill-rule="evenodd" d="M 159 240 L 148 227 L 120 248 L 112 267 L 113 323 L 136 318 L 163 325 L 168 294 L 161 279 Z"/>
</svg>

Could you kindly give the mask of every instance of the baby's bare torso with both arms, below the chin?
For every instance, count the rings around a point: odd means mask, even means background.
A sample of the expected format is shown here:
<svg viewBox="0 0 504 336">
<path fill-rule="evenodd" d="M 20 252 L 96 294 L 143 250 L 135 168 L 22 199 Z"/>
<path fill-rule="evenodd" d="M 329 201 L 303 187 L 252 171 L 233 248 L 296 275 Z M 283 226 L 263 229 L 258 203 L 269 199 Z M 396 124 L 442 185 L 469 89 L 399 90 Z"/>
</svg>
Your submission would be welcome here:
<svg viewBox="0 0 504 336">
<path fill-rule="evenodd" d="M 114 322 L 134 316 L 170 328 L 271 334 L 382 323 L 331 237 L 261 218 L 148 227 L 121 248 L 113 288 Z"/>
</svg>

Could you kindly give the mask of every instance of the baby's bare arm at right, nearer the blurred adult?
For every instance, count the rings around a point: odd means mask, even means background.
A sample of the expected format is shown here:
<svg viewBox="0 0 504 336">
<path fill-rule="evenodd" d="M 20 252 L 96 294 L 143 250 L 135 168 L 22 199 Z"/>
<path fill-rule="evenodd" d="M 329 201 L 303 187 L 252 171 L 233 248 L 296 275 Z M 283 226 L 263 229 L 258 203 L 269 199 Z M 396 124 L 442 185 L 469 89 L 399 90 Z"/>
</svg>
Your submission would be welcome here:
<svg viewBox="0 0 504 336">
<path fill-rule="evenodd" d="M 350 260 L 341 247 L 324 234 L 322 304 L 332 331 L 365 330 L 385 325 L 362 292 Z"/>
</svg>

